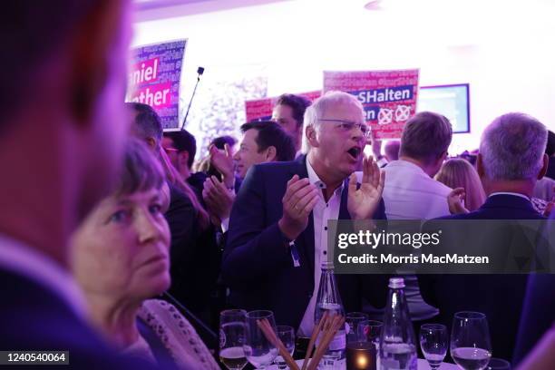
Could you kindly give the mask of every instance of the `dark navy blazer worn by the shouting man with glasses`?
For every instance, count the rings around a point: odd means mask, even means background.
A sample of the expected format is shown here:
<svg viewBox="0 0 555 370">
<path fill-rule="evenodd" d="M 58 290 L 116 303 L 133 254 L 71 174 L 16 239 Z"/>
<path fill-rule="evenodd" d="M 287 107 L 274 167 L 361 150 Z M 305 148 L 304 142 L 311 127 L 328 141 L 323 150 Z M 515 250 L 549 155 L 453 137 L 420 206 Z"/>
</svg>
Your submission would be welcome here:
<svg viewBox="0 0 555 370">
<path fill-rule="evenodd" d="M 277 323 L 298 327 L 314 291 L 314 220 L 296 239 L 300 267 L 293 266 L 291 251 L 277 226 L 283 214 L 287 181 L 297 174 L 307 178 L 306 156 L 296 161 L 253 166 L 241 185 L 229 223 L 222 277 L 230 287 L 235 307 L 270 309 Z M 339 219 L 350 219 L 344 187 Z M 384 202 L 375 219 L 385 219 Z M 385 306 L 387 277 L 337 275 L 337 285 L 347 312 L 361 309 L 364 296 L 375 307 Z"/>
</svg>

